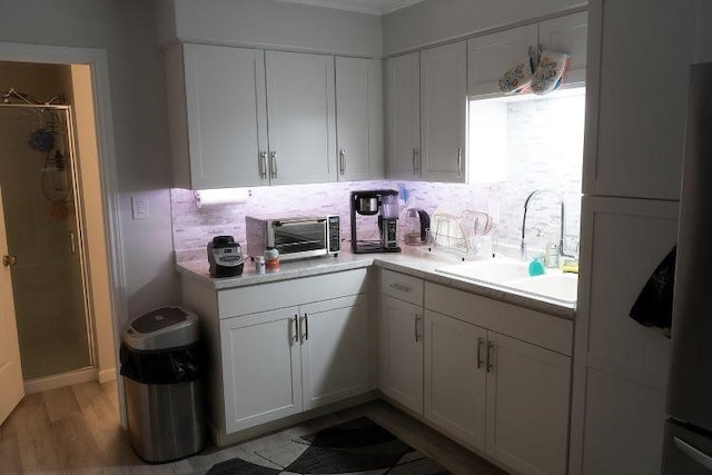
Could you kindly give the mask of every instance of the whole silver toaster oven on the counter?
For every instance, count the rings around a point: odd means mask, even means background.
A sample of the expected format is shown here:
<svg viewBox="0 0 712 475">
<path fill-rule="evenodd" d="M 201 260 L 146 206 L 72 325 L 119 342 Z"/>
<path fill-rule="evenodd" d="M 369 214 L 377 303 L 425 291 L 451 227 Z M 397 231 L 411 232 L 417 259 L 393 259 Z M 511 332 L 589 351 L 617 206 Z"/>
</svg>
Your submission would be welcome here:
<svg viewBox="0 0 712 475">
<path fill-rule="evenodd" d="M 247 254 L 261 256 L 268 247 L 279 251 L 281 260 L 336 256 L 340 251 L 338 215 L 304 217 L 245 217 Z"/>
</svg>

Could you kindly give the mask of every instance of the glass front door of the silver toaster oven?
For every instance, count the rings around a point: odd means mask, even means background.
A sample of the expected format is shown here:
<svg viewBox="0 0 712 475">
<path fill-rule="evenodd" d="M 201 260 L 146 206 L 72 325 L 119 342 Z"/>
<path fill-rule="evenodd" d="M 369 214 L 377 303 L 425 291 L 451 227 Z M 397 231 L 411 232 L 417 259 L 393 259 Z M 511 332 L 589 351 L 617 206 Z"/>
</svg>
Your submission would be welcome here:
<svg viewBox="0 0 712 475">
<path fill-rule="evenodd" d="M 326 219 L 273 221 L 275 247 L 283 259 L 327 254 Z"/>
</svg>

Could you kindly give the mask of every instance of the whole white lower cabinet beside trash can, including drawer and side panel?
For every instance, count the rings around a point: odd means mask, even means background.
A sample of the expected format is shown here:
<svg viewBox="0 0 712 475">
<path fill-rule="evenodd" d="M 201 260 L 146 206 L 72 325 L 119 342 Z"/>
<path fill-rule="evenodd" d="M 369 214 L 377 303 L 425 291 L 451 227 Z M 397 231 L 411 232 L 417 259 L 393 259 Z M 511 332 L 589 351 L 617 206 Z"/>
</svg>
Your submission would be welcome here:
<svg viewBox="0 0 712 475">
<path fill-rule="evenodd" d="M 210 355 L 208 425 L 218 446 L 375 388 L 368 280 L 362 268 L 216 289 L 181 276 Z"/>
</svg>

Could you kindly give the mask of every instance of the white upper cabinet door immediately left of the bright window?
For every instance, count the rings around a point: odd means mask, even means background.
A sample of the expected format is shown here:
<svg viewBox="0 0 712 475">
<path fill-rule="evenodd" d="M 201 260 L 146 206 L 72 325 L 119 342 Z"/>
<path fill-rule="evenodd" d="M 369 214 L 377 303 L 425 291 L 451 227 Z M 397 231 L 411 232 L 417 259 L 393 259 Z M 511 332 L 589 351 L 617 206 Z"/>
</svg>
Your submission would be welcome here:
<svg viewBox="0 0 712 475">
<path fill-rule="evenodd" d="M 423 178 L 465 182 L 467 44 L 421 52 Z"/>
</svg>

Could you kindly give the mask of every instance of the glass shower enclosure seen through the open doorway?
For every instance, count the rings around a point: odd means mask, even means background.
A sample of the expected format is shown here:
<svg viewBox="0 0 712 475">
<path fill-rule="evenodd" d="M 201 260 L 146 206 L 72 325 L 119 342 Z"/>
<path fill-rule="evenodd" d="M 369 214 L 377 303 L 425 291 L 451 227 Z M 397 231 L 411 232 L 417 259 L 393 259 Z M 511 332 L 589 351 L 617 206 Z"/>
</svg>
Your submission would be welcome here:
<svg viewBox="0 0 712 475">
<path fill-rule="evenodd" d="M 0 105 L 0 187 L 26 380 L 92 367 L 69 106 Z"/>
</svg>

